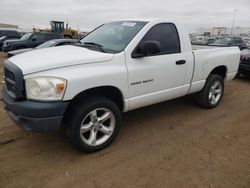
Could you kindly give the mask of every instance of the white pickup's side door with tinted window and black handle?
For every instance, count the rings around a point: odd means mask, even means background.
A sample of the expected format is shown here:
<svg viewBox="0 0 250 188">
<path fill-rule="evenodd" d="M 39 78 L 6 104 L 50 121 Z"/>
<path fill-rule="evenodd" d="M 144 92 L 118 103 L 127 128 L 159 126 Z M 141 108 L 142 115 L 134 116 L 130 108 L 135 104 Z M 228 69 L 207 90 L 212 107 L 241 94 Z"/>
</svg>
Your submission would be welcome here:
<svg viewBox="0 0 250 188">
<path fill-rule="evenodd" d="M 172 23 L 153 26 L 136 48 L 147 41 L 159 43 L 160 52 L 126 57 L 130 109 L 185 95 L 189 89 L 189 84 L 184 84 L 189 65 L 181 52 L 176 26 Z"/>
</svg>

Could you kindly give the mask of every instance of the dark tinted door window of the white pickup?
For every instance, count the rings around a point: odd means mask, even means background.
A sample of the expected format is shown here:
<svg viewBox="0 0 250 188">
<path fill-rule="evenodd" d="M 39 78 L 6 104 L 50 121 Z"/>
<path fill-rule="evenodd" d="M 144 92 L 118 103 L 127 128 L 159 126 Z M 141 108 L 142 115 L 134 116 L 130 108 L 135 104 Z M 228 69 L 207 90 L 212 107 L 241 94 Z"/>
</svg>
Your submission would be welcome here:
<svg viewBox="0 0 250 188">
<path fill-rule="evenodd" d="M 158 24 L 152 27 L 143 37 L 142 42 L 157 41 L 161 45 L 162 54 L 180 53 L 180 39 L 177 29 L 172 23 Z"/>
</svg>

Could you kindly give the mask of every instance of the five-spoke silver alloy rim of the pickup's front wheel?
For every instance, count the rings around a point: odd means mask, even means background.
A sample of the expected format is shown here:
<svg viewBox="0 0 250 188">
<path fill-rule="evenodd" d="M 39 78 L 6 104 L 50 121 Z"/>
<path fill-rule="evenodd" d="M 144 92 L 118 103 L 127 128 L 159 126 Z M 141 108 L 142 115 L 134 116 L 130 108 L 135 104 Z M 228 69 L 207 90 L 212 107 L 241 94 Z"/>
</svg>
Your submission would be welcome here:
<svg viewBox="0 0 250 188">
<path fill-rule="evenodd" d="M 105 143 L 115 129 L 115 116 L 107 108 L 97 108 L 84 117 L 80 126 L 82 141 L 89 146 Z"/>
</svg>

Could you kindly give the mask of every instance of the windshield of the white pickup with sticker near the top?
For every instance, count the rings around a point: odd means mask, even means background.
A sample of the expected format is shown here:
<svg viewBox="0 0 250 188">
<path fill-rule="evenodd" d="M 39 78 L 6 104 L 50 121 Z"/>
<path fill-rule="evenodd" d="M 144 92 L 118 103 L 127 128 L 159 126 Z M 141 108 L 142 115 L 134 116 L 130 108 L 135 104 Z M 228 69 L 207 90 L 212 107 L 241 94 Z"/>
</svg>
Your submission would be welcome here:
<svg viewBox="0 0 250 188">
<path fill-rule="evenodd" d="M 147 24 L 147 22 L 124 21 L 104 24 L 84 37 L 82 45 L 96 46 L 90 48 L 103 52 L 118 53 L 123 51 L 134 36 Z"/>
</svg>

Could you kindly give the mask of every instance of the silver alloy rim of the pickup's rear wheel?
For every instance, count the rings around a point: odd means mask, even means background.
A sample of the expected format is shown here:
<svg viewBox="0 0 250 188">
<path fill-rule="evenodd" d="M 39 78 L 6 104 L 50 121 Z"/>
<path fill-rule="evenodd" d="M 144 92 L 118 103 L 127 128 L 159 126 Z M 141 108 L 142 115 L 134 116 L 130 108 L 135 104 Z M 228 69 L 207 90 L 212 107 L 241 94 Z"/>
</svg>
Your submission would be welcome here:
<svg viewBox="0 0 250 188">
<path fill-rule="evenodd" d="M 208 99 L 209 99 L 209 102 L 212 104 L 212 105 L 215 105 L 219 102 L 221 96 L 222 96 L 222 84 L 221 82 L 219 81 L 215 81 L 210 90 L 209 90 L 209 95 L 208 95 Z"/>
</svg>

